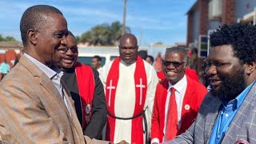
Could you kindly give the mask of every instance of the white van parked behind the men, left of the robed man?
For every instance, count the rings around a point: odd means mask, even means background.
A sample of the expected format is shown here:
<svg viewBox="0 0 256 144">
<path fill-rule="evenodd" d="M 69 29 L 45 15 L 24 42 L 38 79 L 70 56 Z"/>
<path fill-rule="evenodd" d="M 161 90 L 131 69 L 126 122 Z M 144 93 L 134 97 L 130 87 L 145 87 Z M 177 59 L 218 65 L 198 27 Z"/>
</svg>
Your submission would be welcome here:
<svg viewBox="0 0 256 144">
<path fill-rule="evenodd" d="M 90 65 L 91 59 L 98 55 L 102 58 L 102 66 L 119 56 L 118 47 L 90 46 L 78 47 L 78 62 Z"/>
</svg>

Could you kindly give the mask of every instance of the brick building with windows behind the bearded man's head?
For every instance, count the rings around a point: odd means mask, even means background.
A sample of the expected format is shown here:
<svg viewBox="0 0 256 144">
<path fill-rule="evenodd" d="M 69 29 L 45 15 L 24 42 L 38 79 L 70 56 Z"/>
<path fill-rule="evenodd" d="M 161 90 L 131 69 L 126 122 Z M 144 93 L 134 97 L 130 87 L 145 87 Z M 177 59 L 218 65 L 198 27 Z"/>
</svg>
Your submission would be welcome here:
<svg viewBox="0 0 256 144">
<path fill-rule="evenodd" d="M 207 36 L 223 24 L 256 24 L 255 0 L 197 0 L 187 11 L 186 45 L 200 47 L 200 36 Z M 202 54 L 203 55 L 203 54 Z M 200 56 L 200 54 L 199 54 Z"/>
</svg>

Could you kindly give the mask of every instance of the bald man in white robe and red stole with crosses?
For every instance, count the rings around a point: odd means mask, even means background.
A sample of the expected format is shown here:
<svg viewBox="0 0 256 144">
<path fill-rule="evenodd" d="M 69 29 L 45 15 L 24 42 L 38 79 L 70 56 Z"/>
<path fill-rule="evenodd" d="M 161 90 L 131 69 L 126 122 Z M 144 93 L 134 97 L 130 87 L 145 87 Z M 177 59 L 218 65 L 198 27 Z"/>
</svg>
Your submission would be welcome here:
<svg viewBox="0 0 256 144">
<path fill-rule="evenodd" d="M 158 77 L 148 62 L 138 57 L 137 38 L 124 34 L 120 57 L 102 67 L 108 110 L 106 140 L 146 143 Z"/>
</svg>

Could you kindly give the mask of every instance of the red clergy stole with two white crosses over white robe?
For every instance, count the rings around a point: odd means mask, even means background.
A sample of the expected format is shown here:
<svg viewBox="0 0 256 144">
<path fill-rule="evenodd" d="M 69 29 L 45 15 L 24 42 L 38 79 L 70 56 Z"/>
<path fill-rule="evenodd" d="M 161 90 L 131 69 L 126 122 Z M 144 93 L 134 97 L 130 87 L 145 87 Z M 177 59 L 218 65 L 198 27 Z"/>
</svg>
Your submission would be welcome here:
<svg viewBox="0 0 256 144">
<path fill-rule="evenodd" d="M 110 67 L 109 74 L 106 78 L 106 103 L 108 110 L 108 122 L 106 125 L 106 140 L 110 142 L 114 141 L 114 128 L 115 128 L 115 119 L 113 118 L 114 114 L 114 101 L 116 89 L 118 86 L 119 78 L 119 64 L 120 57 L 114 59 L 112 66 Z M 127 82 L 129 85 L 129 82 Z M 146 90 L 147 90 L 147 81 L 146 81 L 146 70 L 142 58 L 138 57 L 135 66 L 134 72 L 134 86 L 135 86 L 135 108 L 132 118 L 126 118 L 132 120 L 132 129 L 131 129 L 131 142 L 143 143 L 143 127 L 142 127 L 142 111 L 146 100 Z M 122 86 L 122 89 L 126 89 L 126 86 Z M 124 106 L 126 102 L 123 102 Z M 129 109 L 129 107 L 127 107 Z M 110 117 L 110 115 L 112 117 Z M 138 116 L 139 115 L 139 116 Z M 124 120 L 125 121 L 125 120 Z"/>
</svg>

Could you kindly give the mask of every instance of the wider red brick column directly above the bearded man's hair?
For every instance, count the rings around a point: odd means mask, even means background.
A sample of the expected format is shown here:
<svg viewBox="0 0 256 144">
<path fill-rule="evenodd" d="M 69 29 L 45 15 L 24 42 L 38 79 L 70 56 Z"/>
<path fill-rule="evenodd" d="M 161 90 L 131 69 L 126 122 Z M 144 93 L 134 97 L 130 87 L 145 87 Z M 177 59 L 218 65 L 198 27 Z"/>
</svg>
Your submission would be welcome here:
<svg viewBox="0 0 256 144">
<path fill-rule="evenodd" d="M 222 0 L 222 24 L 230 25 L 234 22 L 235 0 Z"/>
</svg>

